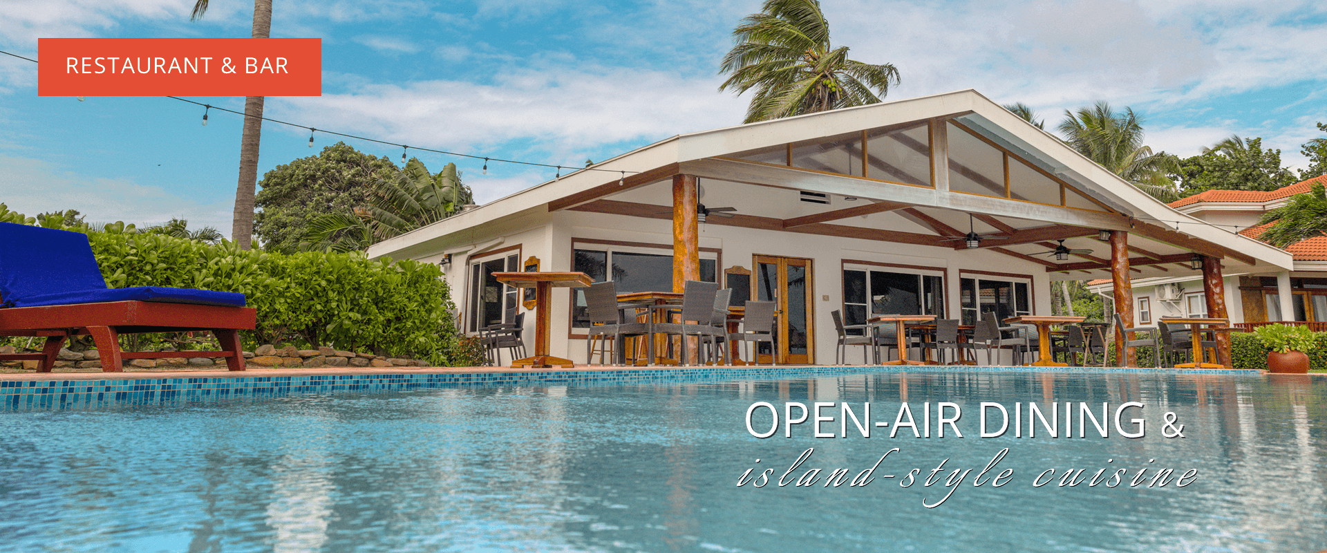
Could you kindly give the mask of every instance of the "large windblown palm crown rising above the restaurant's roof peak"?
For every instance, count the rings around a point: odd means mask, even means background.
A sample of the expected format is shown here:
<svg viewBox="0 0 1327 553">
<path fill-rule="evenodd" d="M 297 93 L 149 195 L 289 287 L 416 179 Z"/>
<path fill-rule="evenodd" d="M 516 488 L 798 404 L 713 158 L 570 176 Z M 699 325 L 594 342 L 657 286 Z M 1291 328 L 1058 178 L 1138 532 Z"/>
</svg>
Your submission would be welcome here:
<svg viewBox="0 0 1327 553">
<path fill-rule="evenodd" d="M 817 0 L 766 0 L 733 29 L 735 45 L 719 73 L 719 90 L 755 89 L 746 123 L 880 102 L 898 84 L 892 64 L 848 60 L 829 45 L 829 23 Z M 873 90 L 880 90 L 880 97 Z"/>
</svg>

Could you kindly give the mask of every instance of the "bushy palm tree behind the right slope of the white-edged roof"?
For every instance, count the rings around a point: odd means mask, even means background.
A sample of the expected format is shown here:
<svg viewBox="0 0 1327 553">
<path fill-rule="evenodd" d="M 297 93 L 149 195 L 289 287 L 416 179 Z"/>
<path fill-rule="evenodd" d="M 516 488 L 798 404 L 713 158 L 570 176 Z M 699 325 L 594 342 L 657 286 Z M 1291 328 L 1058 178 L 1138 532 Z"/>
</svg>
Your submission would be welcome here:
<svg viewBox="0 0 1327 553">
<path fill-rule="evenodd" d="M 1064 111 L 1059 126 L 1064 142 L 1121 179 L 1162 202 L 1178 199 L 1180 191 L 1166 174 L 1180 172 L 1173 155 L 1153 154 L 1143 145 L 1143 117 L 1125 107 L 1116 113 L 1107 102 Z"/>
</svg>

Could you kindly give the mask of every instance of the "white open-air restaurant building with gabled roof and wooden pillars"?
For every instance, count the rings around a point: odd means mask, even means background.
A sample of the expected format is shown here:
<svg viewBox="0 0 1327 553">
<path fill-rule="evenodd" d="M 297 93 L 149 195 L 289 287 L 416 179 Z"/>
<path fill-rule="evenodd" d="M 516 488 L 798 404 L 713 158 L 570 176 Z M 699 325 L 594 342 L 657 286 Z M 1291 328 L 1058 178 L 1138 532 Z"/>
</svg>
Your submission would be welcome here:
<svg viewBox="0 0 1327 553">
<path fill-rule="evenodd" d="M 490 275 L 527 260 L 618 292 L 746 281 L 780 302 L 778 361 L 796 363 L 833 359 L 833 310 L 971 322 L 1051 314 L 1051 280 L 1192 277 L 1194 256 L 1216 275 L 1291 269 L 1290 253 L 1174 211 L 973 90 L 682 134 L 593 168 L 369 255 L 443 264 L 466 333 L 522 301 Z M 584 361 L 577 292 L 555 292 L 551 353 Z"/>
</svg>

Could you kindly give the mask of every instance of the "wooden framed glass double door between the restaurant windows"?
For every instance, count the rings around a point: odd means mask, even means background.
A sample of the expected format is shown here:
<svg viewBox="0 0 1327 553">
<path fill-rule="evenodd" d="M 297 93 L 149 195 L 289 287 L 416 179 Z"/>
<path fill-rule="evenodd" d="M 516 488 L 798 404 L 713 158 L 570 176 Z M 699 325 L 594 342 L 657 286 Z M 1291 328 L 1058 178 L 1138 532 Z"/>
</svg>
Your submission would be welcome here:
<svg viewBox="0 0 1327 553">
<path fill-rule="evenodd" d="M 811 260 L 800 257 L 752 256 L 755 272 L 751 298 L 778 305 L 774 349 L 758 351 L 760 363 L 815 363 L 815 286 Z"/>
</svg>

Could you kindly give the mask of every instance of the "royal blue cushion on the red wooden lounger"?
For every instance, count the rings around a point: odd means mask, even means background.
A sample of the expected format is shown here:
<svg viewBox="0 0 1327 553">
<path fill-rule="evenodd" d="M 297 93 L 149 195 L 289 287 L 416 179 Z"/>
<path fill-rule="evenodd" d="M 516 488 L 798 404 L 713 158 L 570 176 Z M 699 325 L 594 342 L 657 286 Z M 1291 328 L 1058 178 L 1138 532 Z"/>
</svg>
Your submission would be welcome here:
<svg viewBox="0 0 1327 553">
<path fill-rule="evenodd" d="M 243 308 L 244 294 L 188 288 L 106 288 L 88 235 L 0 223 L 0 301 L 3 306 L 97 304 L 105 301 Z"/>
</svg>

